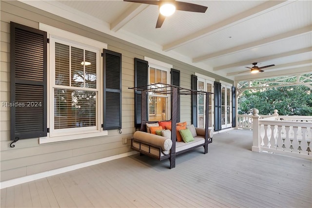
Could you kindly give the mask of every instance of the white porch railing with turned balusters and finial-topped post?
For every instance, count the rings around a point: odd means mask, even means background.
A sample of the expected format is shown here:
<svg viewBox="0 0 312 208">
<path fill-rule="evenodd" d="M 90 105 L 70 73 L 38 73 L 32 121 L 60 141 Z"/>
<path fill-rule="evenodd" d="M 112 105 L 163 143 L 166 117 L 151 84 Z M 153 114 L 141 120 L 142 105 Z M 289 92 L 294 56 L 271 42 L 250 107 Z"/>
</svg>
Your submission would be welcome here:
<svg viewBox="0 0 312 208">
<path fill-rule="evenodd" d="M 278 116 L 276 111 L 271 117 L 260 117 L 254 111 L 253 151 L 312 160 L 312 116 Z"/>
</svg>

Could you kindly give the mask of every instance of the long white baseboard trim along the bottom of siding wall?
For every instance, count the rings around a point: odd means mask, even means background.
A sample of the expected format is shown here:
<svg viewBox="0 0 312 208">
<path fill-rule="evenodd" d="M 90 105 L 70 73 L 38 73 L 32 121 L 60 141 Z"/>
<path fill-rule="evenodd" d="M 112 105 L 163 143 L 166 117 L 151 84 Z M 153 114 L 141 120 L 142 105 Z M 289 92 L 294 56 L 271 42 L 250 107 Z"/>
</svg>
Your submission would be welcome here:
<svg viewBox="0 0 312 208">
<path fill-rule="evenodd" d="M 37 179 L 40 179 L 40 178 L 49 177 L 49 176 L 52 176 L 52 175 L 57 175 L 57 174 L 60 174 L 60 173 L 71 171 L 71 170 L 77 170 L 79 168 L 85 168 L 85 167 L 88 167 L 88 166 L 92 166 L 92 165 L 96 165 L 96 164 L 99 164 L 99 163 L 115 160 L 115 159 L 118 159 L 118 158 L 127 157 L 127 156 L 130 156 L 130 155 L 136 154 L 136 153 L 137 153 L 137 151 L 129 151 L 129 152 L 126 152 L 126 153 L 117 154 L 117 155 L 113 155 L 113 156 L 110 156 L 110 157 L 101 158 L 101 159 L 98 159 L 98 160 L 93 160 L 93 161 L 89 161 L 89 162 L 85 162 L 85 163 L 80 163 L 80 164 L 77 164 L 77 165 L 67 166 L 67 167 L 64 167 L 64 168 L 59 168 L 59 169 L 55 169 L 55 170 L 49 170 L 49 171 L 40 172 L 40 173 L 37 173 L 37 174 L 34 174 L 34 175 L 27 175 L 27 176 L 24 176 L 24 177 L 21 177 L 21 178 L 16 178 L 16 179 L 8 180 L 8 181 L 3 181 L 3 182 L 0 182 L 0 189 L 4 189 L 4 188 L 7 188 L 7 187 L 12 187 L 12 186 L 15 186 L 15 185 L 19 185 L 19 184 L 22 184 L 22 183 L 34 181 L 34 180 L 37 180 Z"/>
</svg>

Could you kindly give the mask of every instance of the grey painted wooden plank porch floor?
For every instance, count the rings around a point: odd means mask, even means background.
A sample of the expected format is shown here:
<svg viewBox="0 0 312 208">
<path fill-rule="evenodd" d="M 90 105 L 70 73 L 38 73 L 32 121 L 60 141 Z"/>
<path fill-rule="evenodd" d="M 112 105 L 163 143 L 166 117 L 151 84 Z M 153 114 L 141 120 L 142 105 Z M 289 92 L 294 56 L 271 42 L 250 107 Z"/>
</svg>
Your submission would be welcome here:
<svg viewBox="0 0 312 208">
<path fill-rule="evenodd" d="M 311 208 L 312 162 L 252 152 L 252 133 L 214 135 L 169 160 L 138 154 L 1 189 L 6 207 Z"/>
</svg>

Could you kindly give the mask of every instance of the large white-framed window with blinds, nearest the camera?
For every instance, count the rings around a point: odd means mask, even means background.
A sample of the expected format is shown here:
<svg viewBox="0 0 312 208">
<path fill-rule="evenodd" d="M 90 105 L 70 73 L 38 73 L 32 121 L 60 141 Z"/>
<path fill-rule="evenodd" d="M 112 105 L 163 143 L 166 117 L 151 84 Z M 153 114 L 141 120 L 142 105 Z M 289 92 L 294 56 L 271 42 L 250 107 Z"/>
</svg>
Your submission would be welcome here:
<svg viewBox="0 0 312 208">
<path fill-rule="evenodd" d="M 48 33 L 48 128 L 40 143 L 107 135 L 103 131 L 103 48 L 107 44 L 40 24 Z"/>
</svg>

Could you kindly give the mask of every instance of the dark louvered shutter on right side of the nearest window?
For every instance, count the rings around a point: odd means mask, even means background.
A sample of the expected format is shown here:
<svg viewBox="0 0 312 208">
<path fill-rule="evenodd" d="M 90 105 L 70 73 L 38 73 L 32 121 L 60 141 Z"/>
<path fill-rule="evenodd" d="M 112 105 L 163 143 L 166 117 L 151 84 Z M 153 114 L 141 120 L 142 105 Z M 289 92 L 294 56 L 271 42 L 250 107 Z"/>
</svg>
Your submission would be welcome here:
<svg viewBox="0 0 312 208">
<path fill-rule="evenodd" d="M 121 54 L 103 50 L 103 130 L 121 129 Z"/>
</svg>

